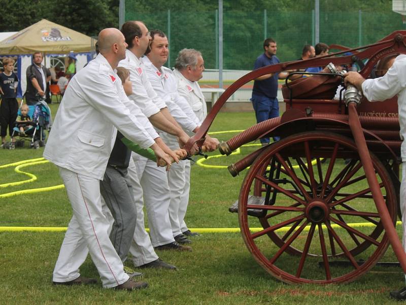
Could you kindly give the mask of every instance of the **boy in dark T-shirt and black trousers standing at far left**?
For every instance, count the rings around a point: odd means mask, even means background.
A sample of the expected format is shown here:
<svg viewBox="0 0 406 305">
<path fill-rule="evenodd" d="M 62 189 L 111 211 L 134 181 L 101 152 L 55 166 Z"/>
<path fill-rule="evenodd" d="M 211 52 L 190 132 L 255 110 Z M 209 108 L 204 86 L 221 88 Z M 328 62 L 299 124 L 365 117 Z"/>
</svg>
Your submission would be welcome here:
<svg viewBox="0 0 406 305">
<path fill-rule="evenodd" d="M 6 142 L 7 128 L 9 135 L 13 133 L 13 127 L 17 118 L 18 103 L 16 99 L 16 90 L 18 86 L 17 75 L 14 70 L 14 59 L 5 58 L 3 60 L 4 72 L 0 74 L 0 93 L 2 94 L 2 102 L 0 104 L 0 135 L 2 137 L 2 147 Z M 9 146 L 14 148 L 15 139 L 12 139 Z"/>
</svg>

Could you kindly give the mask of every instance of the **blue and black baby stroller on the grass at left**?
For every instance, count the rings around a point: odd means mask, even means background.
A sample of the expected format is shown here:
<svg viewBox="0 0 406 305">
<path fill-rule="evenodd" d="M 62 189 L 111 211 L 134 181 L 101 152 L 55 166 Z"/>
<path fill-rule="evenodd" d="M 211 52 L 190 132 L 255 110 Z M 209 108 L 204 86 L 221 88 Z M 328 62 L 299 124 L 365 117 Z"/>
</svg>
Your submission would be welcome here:
<svg viewBox="0 0 406 305">
<path fill-rule="evenodd" d="M 16 123 L 16 126 L 13 128 L 11 138 L 13 140 L 14 137 L 19 137 L 19 139 L 15 141 L 16 147 L 23 147 L 24 142 L 29 140 L 29 146 L 31 148 L 38 149 L 45 146 L 45 130 L 49 130 L 52 124 L 51 110 L 49 109 L 45 100 L 39 100 L 36 105 L 29 105 L 28 108 L 28 116 L 32 118 L 32 120 Z M 18 116 L 20 115 L 21 111 L 18 109 Z M 28 128 L 24 131 L 24 134 L 20 132 L 19 126 L 21 125 L 28 126 Z"/>
</svg>

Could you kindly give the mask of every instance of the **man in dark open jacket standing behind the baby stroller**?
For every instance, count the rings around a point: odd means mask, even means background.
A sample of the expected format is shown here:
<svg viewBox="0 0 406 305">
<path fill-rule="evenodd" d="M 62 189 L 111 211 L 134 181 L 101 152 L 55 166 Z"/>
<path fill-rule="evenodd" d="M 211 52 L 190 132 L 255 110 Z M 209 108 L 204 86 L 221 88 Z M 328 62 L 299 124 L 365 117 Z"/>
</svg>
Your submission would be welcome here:
<svg viewBox="0 0 406 305">
<path fill-rule="evenodd" d="M 42 65 L 42 60 L 42 53 L 35 52 L 33 64 L 27 68 L 27 90 L 25 92 L 27 105 L 35 105 L 40 97 L 45 98 L 47 83 L 51 80 L 51 72 Z"/>
</svg>

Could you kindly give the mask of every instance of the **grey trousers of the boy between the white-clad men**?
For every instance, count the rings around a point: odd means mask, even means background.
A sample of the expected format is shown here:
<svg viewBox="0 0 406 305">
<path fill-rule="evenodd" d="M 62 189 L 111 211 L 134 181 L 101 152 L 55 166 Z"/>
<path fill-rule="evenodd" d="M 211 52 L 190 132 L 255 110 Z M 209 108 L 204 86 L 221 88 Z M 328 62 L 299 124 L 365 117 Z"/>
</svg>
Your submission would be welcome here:
<svg viewBox="0 0 406 305">
<path fill-rule="evenodd" d="M 110 240 L 121 261 L 127 259 L 136 228 L 137 210 L 127 171 L 107 166 L 100 193 L 114 218 Z"/>
</svg>

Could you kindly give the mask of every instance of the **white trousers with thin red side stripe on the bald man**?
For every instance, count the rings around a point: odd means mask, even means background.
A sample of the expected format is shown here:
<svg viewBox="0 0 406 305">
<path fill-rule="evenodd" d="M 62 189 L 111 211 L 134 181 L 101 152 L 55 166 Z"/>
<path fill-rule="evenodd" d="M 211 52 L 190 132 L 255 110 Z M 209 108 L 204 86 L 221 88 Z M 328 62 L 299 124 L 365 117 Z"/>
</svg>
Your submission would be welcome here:
<svg viewBox="0 0 406 305">
<path fill-rule="evenodd" d="M 80 276 L 79 267 L 90 256 L 103 287 L 111 288 L 128 280 L 123 263 L 109 234 L 109 221 L 103 214 L 100 181 L 65 168 L 59 168 L 73 216 L 67 227 L 53 272 L 54 282 L 69 282 Z"/>
</svg>

